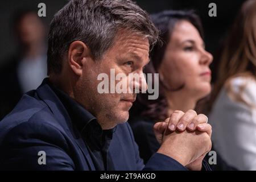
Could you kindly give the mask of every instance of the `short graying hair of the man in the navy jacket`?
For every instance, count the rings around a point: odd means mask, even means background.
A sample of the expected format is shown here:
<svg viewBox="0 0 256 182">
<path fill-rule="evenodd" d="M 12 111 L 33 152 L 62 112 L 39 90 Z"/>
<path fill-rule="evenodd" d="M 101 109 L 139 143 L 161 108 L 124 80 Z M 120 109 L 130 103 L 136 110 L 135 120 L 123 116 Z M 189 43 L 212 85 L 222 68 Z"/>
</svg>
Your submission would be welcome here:
<svg viewBox="0 0 256 182">
<path fill-rule="evenodd" d="M 60 73 L 63 56 L 70 44 L 80 40 L 100 60 L 113 45 L 118 30 L 125 28 L 158 40 L 158 30 L 150 16 L 131 0 L 71 0 L 52 19 L 48 35 L 48 75 Z"/>
</svg>

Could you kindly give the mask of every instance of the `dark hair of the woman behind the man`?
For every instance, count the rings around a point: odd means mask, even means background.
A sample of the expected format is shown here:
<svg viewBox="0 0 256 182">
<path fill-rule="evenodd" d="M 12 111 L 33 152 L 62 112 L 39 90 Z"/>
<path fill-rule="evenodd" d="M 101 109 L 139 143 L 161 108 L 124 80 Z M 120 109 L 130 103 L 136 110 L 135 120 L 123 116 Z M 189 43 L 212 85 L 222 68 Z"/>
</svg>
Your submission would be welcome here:
<svg viewBox="0 0 256 182">
<path fill-rule="evenodd" d="M 199 31 L 201 38 L 203 38 L 203 27 L 201 26 L 201 20 L 194 11 L 175 11 L 167 10 L 161 13 L 151 15 L 151 18 L 155 26 L 160 31 L 160 42 L 151 49 L 150 63 L 146 65 L 144 73 L 158 73 L 158 69 L 162 63 L 164 52 L 172 35 L 172 31 L 177 22 L 181 20 L 187 20 Z M 154 81 L 154 78 L 152 79 Z M 152 82 L 154 86 L 154 82 Z M 137 95 L 137 100 L 134 102 L 133 107 L 130 110 L 130 116 L 147 117 L 152 121 L 159 121 L 166 119 L 167 115 L 167 100 L 164 94 L 164 88 L 167 85 L 159 79 L 159 97 L 156 100 L 148 100 L 148 93 L 140 93 Z"/>
</svg>

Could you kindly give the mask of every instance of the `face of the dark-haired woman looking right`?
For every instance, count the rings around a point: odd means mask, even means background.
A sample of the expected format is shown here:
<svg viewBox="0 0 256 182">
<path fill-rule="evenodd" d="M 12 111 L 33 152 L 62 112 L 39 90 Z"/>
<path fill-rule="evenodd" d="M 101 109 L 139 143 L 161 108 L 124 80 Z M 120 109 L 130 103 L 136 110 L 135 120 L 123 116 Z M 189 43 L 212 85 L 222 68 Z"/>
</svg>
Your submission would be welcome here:
<svg viewBox="0 0 256 182">
<path fill-rule="evenodd" d="M 159 68 L 160 78 L 171 89 L 200 99 L 210 92 L 212 55 L 205 51 L 199 31 L 188 21 L 177 22 Z"/>
</svg>

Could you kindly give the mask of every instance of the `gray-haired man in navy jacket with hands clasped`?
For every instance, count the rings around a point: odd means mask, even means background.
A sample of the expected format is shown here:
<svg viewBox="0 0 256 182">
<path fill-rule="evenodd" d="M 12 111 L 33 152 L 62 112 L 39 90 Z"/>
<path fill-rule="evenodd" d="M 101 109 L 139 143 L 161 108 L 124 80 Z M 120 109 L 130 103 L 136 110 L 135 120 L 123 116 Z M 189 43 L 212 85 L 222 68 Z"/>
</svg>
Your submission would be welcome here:
<svg viewBox="0 0 256 182">
<path fill-rule="evenodd" d="M 205 120 L 195 121 L 205 123 L 201 131 L 167 130 L 177 118 L 187 126 L 195 111 L 156 123 L 162 146 L 144 165 L 126 122 L 136 94 L 97 91 L 97 76 L 110 69 L 142 73 L 157 39 L 148 14 L 130 0 L 69 1 L 51 22 L 49 77 L 0 122 L 0 169 L 201 169 L 211 147 Z M 130 90 L 145 85 L 143 77 L 127 82 Z"/>
</svg>

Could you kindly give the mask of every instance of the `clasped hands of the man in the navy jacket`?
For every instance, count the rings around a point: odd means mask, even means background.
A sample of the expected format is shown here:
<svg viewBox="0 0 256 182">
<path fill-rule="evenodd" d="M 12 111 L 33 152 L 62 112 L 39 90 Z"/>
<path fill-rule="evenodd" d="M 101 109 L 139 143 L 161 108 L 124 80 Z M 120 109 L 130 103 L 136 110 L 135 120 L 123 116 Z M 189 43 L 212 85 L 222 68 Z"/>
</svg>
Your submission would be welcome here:
<svg viewBox="0 0 256 182">
<path fill-rule="evenodd" d="M 197 115 L 194 110 L 176 110 L 164 122 L 155 123 L 155 137 L 161 144 L 157 152 L 188 169 L 201 170 L 204 156 L 212 147 L 212 127 L 207 120 L 206 115 Z"/>
</svg>

